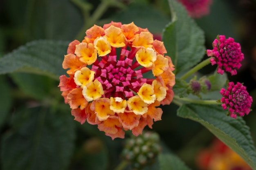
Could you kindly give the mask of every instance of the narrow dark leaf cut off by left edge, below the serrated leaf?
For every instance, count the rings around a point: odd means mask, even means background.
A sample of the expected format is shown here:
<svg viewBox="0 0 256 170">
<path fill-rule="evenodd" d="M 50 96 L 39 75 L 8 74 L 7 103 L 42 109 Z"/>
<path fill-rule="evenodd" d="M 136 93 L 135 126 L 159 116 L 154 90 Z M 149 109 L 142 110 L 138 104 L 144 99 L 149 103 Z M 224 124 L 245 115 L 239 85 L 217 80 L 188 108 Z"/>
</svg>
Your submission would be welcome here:
<svg viewBox="0 0 256 170">
<path fill-rule="evenodd" d="M 0 76 L 0 89 L 1 89 L 1 97 L 0 97 L 0 127 L 4 124 L 6 117 L 11 109 L 12 98 L 11 98 L 11 88 L 9 84 L 4 79 L 3 76 Z"/>
</svg>

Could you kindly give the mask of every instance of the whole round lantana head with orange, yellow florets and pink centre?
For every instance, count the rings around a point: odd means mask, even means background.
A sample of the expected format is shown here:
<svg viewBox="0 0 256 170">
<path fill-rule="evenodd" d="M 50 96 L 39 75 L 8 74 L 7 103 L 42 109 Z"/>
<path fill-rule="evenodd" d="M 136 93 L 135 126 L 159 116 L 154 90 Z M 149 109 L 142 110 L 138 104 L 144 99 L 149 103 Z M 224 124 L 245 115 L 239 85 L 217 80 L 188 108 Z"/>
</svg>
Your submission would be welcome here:
<svg viewBox="0 0 256 170">
<path fill-rule="evenodd" d="M 74 120 L 98 125 L 112 139 L 126 130 L 137 136 L 161 120 L 160 104 L 170 104 L 175 84 L 163 42 L 133 22 L 94 25 L 82 42 L 67 49 L 59 87 Z"/>
</svg>

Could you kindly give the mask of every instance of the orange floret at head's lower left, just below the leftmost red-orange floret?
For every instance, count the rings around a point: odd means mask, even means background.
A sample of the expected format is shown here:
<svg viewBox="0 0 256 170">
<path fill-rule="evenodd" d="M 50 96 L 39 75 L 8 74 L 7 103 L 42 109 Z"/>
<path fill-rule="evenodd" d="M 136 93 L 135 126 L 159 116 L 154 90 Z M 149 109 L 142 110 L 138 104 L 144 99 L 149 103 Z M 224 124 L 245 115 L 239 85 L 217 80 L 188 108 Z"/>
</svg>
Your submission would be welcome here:
<svg viewBox="0 0 256 170">
<path fill-rule="evenodd" d="M 72 109 L 80 106 L 80 109 L 83 110 L 88 105 L 88 102 L 83 97 L 81 88 L 74 88 L 72 91 L 70 91 L 70 93 L 67 95 L 67 101 Z"/>
</svg>

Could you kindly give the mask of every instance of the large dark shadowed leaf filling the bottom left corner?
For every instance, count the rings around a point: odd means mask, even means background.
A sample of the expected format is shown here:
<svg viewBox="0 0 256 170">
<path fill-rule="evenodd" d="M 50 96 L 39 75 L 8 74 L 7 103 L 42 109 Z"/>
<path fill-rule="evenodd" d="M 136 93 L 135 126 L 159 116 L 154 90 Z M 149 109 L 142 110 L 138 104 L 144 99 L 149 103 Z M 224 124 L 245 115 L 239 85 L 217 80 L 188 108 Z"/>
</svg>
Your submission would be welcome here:
<svg viewBox="0 0 256 170">
<path fill-rule="evenodd" d="M 70 113 L 43 107 L 19 110 L 1 140 L 2 170 L 67 169 L 74 148 Z"/>
</svg>

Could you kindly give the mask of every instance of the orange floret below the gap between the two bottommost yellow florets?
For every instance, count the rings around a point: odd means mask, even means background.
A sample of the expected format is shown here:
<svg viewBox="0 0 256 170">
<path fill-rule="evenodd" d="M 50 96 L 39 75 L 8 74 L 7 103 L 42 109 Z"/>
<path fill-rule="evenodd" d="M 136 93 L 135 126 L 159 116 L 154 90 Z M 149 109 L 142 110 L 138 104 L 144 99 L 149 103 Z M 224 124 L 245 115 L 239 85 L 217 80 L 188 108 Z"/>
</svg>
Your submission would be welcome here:
<svg viewBox="0 0 256 170">
<path fill-rule="evenodd" d="M 122 123 L 123 127 L 132 130 L 139 125 L 140 115 L 135 115 L 134 113 L 119 113 L 119 121 Z"/>
</svg>

